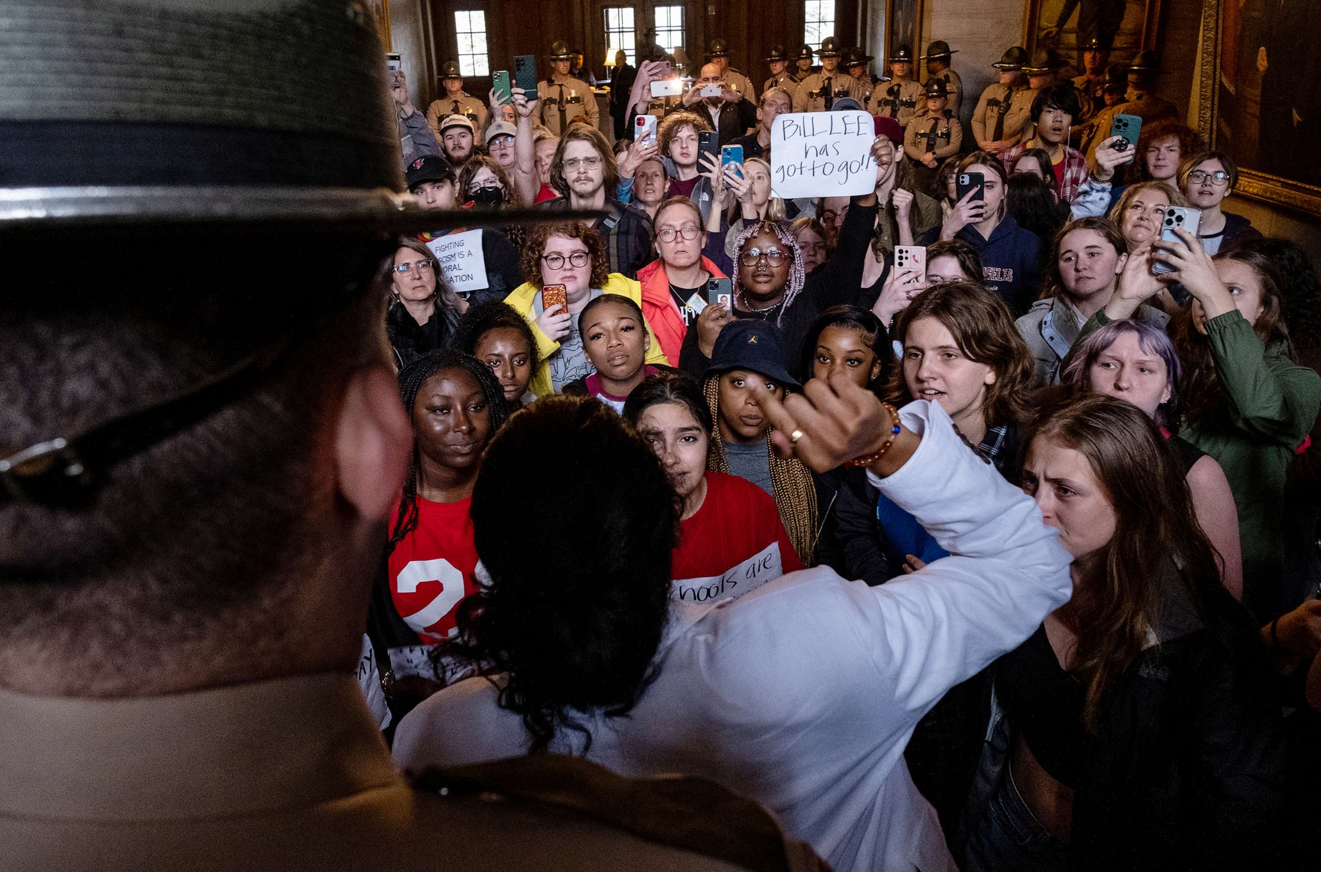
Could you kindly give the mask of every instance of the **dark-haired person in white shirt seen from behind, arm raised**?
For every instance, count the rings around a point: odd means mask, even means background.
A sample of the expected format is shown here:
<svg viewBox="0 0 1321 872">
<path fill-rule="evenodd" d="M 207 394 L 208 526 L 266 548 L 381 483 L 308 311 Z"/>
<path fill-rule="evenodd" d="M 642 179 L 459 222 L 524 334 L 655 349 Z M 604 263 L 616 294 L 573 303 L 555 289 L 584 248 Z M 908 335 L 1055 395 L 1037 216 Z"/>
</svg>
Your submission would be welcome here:
<svg viewBox="0 0 1321 872">
<path fill-rule="evenodd" d="M 814 469 L 859 458 L 954 556 L 876 588 L 818 567 L 662 612 L 674 515 L 663 485 L 627 474 L 645 469 L 634 456 L 647 447 L 612 437 L 616 416 L 598 404 L 542 400 L 506 424 L 473 495 L 490 587 L 460 626 L 469 654 L 499 674 L 423 703 L 399 727 L 396 760 L 464 764 L 535 745 L 624 774 L 700 774 L 771 807 L 839 872 L 952 872 L 904 748 L 950 687 L 1069 599 L 1070 558 L 938 404 L 894 412 L 845 382 L 814 382 L 787 410 L 760 383 L 748 390 L 779 451 Z M 572 474 L 543 462 L 571 435 Z M 497 505 L 509 488 L 556 499 L 511 530 Z"/>
</svg>

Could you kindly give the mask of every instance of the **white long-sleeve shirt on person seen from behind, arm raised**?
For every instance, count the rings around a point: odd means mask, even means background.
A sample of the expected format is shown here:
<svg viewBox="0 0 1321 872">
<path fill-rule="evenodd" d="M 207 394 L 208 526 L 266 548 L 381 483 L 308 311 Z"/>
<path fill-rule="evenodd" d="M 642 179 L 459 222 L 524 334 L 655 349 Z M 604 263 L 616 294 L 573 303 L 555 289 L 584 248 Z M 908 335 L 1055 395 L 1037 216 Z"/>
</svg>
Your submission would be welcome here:
<svg viewBox="0 0 1321 872">
<path fill-rule="evenodd" d="M 775 811 L 839 872 L 955 869 L 904 748 L 954 684 L 1020 645 L 1070 595 L 1069 554 L 934 403 L 902 410 L 922 441 L 875 478 L 951 556 L 869 588 L 818 567 L 737 600 L 683 604 L 659 672 L 626 717 L 583 716 L 589 760 L 626 776 L 713 778 Z M 469 679 L 395 735 L 407 768 L 526 753 L 522 719 Z M 581 753 L 564 731 L 552 752 Z"/>
</svg>

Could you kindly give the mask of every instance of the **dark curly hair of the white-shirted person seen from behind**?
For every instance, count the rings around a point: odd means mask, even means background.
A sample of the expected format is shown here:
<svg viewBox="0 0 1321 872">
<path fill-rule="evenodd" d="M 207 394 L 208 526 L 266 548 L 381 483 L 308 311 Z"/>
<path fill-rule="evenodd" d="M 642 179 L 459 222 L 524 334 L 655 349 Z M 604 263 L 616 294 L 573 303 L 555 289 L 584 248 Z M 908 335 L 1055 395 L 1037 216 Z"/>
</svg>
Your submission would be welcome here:
<svg viewBox="0 0 1321 872">
<path fill-rule="evenodd" d="M 556 445 L 573 447 L 572 462 L 544 462 Z M 523 501 L 511 525 L 513 494 L 546 498 Z M 596 399 L 538 400 L 487 447 L 472 505 L 486 572 L 444 645 L 482 665 L 532 753 L 561 729 L 589 748 L 572 712 L 626 715 L 650 683 L 680 506 L 655 452 Z"/>
</svg>

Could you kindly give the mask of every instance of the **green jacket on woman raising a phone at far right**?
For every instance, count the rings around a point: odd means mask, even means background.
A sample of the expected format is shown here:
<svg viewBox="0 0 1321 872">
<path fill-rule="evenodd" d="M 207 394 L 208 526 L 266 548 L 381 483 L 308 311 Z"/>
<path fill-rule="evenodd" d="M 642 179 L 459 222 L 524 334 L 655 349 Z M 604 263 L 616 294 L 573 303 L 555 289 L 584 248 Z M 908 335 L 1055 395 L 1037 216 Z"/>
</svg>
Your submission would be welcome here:
<svg viewBox="0 0 1321 872">
<path fill-rule="evenodd" d="M 1089 318 L 1079 338 L 1110 324 Z M 1283 342 L 1266 346 L 1239 312 L 1206 322 L 1229 419 L 1186 424 L 1178 435 L 1215 458 L 1234 491 L 1243 547 L 1243 602 L 1259 618 L 1284 609 L 1284 480 L 1321 410 L 1321 377 L 1296 365 Z"/>
</svg>

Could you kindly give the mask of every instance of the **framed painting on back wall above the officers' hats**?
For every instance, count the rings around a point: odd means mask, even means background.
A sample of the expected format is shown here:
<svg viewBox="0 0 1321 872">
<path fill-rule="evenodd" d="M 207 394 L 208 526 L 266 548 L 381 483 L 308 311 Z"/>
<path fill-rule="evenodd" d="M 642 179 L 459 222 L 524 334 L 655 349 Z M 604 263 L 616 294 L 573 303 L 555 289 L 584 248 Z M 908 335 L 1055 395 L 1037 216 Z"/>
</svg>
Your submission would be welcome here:
<svg viewBox="0 0 1321 872">
<path fill-rule="evenodd" d="M 1129 61 L 1156 48 L 1161 0 L 1028 0 L 1022 44 L 1059 52 L 1082 69 L 1082 46 L 1092 37 L 1108 42 L 1115 61 Z"/>
</svg>

